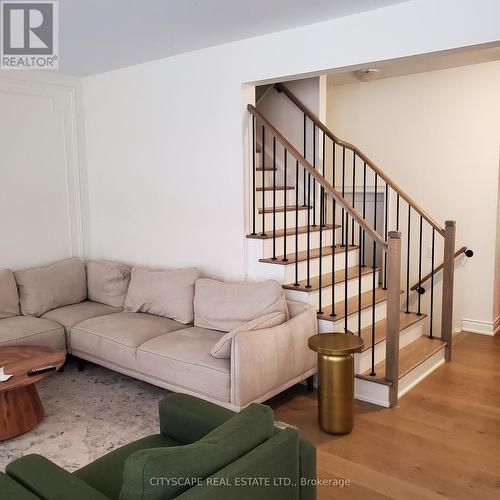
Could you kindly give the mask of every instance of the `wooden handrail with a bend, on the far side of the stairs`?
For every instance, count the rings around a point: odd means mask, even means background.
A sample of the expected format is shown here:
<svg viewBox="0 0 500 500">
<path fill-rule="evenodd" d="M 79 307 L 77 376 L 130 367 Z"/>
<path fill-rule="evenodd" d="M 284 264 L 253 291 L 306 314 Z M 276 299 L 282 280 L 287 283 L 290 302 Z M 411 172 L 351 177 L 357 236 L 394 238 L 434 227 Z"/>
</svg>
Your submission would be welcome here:
<svg viewBox="0 0 500 500">
<path fill-rule="evenodd" d="M 396 191 L 403 200 L 405 200 L 411 207 L 420 214 L 432 227 L 436 229 L 436 231 L 444 237 L 445 230 L 442 226 L 440 226 L 422 207 L 420 207 L 417 202 L 411 198 L 409 194 L 407 194 L 403 189 L 401 189 L 390 177 L 388 177 L 384 172 L 373 163 L 362 151 L 360 151 L 356 146 L 350 144 L 342 139 L 339 139 L 333 132 L 326 127 L 317 116 L 310 111 L 288 88 L 282 83 L 277 83 L 275 88 L 279 92 L 283 92 L 303 113 L 307 115 L 307 117 L 316 124 L 316 126 L 322 130 L 333 142 L 338 144 L 339 146 L 345 147 L 353 151 L 356 155 L 358 155 L 367 165 L 369 165 L 372 170 L 383 179 L 389 186 L 391 186 L 394 191 Z"/>
</svg>

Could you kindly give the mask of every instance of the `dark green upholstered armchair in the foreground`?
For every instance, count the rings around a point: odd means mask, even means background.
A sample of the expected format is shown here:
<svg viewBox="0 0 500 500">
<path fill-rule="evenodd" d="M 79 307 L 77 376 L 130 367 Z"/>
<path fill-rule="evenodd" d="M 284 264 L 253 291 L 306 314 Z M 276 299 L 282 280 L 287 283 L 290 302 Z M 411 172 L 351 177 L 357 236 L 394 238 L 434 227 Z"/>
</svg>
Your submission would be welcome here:
<svg viewBox="0 0 500 500">
<path fill-rule="evenodd" d="M 0 474 L 0 491 L 9 500 L 314 500 L 315 479 L 314 446 L 276 428 L 269 407 L 234 413 L 172 394 L 160 403 L 160 434 L 74 473 L 26 455 Z"/>
</svg>

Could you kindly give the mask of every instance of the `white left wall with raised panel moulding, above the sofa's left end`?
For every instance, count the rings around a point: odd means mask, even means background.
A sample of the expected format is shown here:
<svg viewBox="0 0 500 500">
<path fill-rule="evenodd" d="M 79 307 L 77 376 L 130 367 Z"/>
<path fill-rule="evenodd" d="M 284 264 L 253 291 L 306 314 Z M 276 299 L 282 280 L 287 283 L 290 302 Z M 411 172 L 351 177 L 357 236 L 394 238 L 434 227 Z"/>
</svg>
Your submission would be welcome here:
<svg viewBox="0 0 500 500">
<path fill-rule="evenodd" d="M 79 82 L 0 72 L 0 268 L 82 255 Z"/>
</svg>

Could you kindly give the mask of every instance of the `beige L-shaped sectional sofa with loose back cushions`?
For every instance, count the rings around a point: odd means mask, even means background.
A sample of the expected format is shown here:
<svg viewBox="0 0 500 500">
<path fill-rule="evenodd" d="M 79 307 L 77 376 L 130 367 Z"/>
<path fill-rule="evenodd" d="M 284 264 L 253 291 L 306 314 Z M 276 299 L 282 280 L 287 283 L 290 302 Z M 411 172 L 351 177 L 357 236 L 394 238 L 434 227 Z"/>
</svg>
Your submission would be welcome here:
<svg viewBox="0 0 500 500">
<path fill-rule="evenodd" d="M 313 307 L 281 285 L 222 283 L 197 269 L 68 259 L 0 270 L 0 345 L 78 358 L 239 409 L 311 376 Z"/>
</svg>

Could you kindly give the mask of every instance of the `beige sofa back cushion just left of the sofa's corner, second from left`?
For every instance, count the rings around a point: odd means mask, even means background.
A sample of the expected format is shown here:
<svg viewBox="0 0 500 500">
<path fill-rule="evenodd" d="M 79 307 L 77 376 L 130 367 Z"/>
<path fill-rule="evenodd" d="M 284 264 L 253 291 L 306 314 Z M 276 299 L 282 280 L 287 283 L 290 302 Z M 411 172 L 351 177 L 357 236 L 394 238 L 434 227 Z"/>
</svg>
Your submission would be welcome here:
<svg viewBox="0 0 500 500">
<path fill-rule="evenodd" d="M 85 265 L 78 258 L 14 274 L 22 314 L 41 316 L 51 309 L 76 304 L 87 298 Z"/>
</svg>

